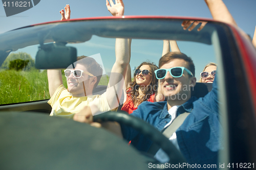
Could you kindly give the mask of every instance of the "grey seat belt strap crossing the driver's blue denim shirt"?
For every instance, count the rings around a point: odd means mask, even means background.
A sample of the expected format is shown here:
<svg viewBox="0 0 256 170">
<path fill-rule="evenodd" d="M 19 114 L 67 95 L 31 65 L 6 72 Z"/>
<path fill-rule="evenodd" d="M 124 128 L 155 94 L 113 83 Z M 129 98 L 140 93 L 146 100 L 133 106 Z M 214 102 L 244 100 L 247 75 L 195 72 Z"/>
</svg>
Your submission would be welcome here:
<svg viewBox="0 0 256 170">
<path fill-rule="evenodd" d="M 172 136 L 173 133 L 176 132 L 176 130 L 183 124 L 188 114 L 189 112 L 185 112 L 176 117 L 176 119 L 174 119 L 173 122 L 162 132 L 163 135 L 167 138 L 170 138 L 170 136 Z M 160 147 L 156 143 L 152 143 L 147 153 L 155 155 L 159 149 Z"/>
</svg>

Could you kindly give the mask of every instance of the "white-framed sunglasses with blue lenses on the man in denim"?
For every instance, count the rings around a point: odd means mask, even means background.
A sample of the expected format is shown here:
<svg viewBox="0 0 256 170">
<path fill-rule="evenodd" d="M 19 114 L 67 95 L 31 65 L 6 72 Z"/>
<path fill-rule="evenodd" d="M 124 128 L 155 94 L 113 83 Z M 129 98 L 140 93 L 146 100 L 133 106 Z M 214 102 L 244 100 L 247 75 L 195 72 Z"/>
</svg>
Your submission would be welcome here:
<svg viewBox="0 0 256 170">
<path fill-rule="evenodd" d="M 186 70 L 188 72 L 189 75 L 193 76 L 192 72 L 189 71 L 189 69 L 185 68 L 185 67 L 173 67 L 173 68 L 168 68 L 168 69 L 157 69 L 155 70 L 155 74 L 157 79 L 163 79 L 165 78 L 167 72 L 170 72 L 170 75 L 174 78 L 179 78 L 183 75 L 183 71 Z"/>
</svg>

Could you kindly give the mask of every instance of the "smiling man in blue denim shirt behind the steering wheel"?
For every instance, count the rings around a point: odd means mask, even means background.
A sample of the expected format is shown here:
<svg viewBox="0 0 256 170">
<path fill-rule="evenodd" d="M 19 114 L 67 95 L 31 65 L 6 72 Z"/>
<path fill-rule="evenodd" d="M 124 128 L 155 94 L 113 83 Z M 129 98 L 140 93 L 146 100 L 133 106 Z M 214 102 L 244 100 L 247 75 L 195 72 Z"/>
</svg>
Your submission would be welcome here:
<svg viewBox="0 0 256 170">
<path fill-rule="evenodd" d="M 191 96 L 190 87 L 196 85 L 195 66 L 185 54 L 169 52 L 159 61 L 156 76 L 167 102 L 143 102 L 131 115 L 145 120 L 159 131 L 166 128 L 184 112 L 190 112 L 170 141 L 181 151 L 189 164 L 217 164 L 221 149 L 218 106 L 218 87 L 215 79 L 212 90 L 204 98 Z M 176 68 L 175 68 L 176 67 Z M 138 150 L 147 151 L 152 141 L 130 127 L 121 125 L 122 135 Z M 156 158 L 168 161 L 161 151 Z"/>
</svg>

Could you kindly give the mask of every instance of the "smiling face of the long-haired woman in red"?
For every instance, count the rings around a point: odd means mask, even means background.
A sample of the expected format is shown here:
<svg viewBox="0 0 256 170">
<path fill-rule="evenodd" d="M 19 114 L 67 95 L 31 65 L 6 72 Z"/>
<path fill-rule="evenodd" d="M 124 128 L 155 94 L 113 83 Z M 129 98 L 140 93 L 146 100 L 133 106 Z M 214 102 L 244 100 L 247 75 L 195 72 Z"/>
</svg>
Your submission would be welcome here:
<svg viewBox="0 0 256 170">
<path fill-rule="evenodd" d="M 147 70 L 150 70 L 150 71 L 151 71 L 151 68 L 150 68 L 150 66 L 148 66 L 148 65 L 142 65 L 139 69 L 140 69 L 140 70 L 147 69 Z M 150 82 L 151 82 L 151 80 L 152 80 L 152 71 L 151 71 L 151 72 L 148 72 L 148 74 L 147 74 L 146 76 L 143 76 L 143 75 L 142 75 L 142 71 L 141 71 L 139 75 L 136 75 L 136 76 L 135 76 L 135 79 L 136 79 L 136 83 L 137 83 L 138 85 L 140 85 L 140 86 L 141 86 L 141 85 L 146 86 L 146 85 L 150 84 Z"/>
</svg>

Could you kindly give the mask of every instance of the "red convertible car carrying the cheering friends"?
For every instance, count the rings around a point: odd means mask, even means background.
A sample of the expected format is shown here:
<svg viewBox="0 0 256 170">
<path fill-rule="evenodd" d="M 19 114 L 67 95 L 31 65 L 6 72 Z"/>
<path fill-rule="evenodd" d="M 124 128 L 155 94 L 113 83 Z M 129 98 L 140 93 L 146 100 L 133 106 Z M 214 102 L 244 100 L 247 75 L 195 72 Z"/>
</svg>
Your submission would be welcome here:
<svg viewBox="0 0 256 170">
<path fill-rule="evenodd" d="M 188 31 L 181 26 L 184 20 L 207 23 L 201 31 L 199 25 Z M 109 131 L 49 116 L 47 69 L 64 70 L 77 56 L 91 56 L 103 68 L 94 91 L 101 94 L 115 62 L 115 38 L 132 39 L 132 72 L 146 60 L 158 65 L 163 40 L 176 40 L 181 52 L 193 59 L 197 80 L 207 63 L 217 63 L 223 129 L 216 133 L 222 136 L 223 150 L 218 153 L 220 164 L 208 168 L 256 166 L 256 50 L 251 42 L 238 29 L 211 19 L 124 16 L 53 21 L 0 34 L 1 169 L 160 167 L 152 156 Z M 210 90 L 210 83 L 197 83 L 193 95 L 200 98 Z M 132 126 L 159 144 L 170 158 L 160 168 L 186 162 L 166 137 L 140 119 L 119 111 L 94 119 Z"/>
</svg>

